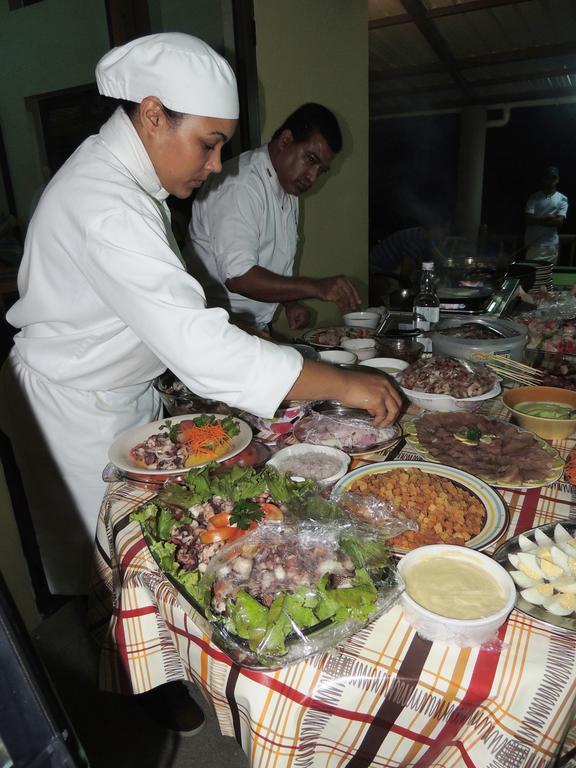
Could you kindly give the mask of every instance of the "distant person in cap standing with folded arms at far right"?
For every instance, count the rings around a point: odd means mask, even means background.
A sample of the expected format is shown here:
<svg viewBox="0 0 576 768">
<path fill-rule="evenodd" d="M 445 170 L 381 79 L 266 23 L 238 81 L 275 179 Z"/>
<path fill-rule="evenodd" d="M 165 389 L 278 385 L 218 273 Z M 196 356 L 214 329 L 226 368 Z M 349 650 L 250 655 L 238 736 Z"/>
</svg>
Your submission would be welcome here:
<svg viewBox="0 0 576 768">
<path fill-rule="evenodd" d="M 564 224 L 568 213 L 568 198 L 557 190 L 559 181 L 560 171 L 549 166 L 542 177 L 542 187 L 528 198 L 524 234 L 527 261 L 558 261 L 558 227 Z"/>
</svg>

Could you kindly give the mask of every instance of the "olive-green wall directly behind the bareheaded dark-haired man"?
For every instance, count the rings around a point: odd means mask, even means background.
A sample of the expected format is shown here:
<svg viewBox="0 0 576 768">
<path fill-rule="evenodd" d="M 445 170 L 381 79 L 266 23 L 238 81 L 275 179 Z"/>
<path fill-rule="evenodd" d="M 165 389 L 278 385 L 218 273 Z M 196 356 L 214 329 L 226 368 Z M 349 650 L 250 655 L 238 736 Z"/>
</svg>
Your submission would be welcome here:
<svg viewBox="0 0 576 768">
<path fill-rule="evenodd" d="M 306 101 L 338 117 L 344 147 L 330 174 L 300 198 L 300 274 L 345 273 L 367 298 L 368 7 L 366 0 L 254 0 L 262 139 Z M 340 318 L 314 301 L 318 320 Z M 276 323 L 286 330 L 282 320 Z M 287 331 L 288 332 L 288 331 Z M 291 332 L 290 332 L 291 333 Z"/>
</svg>

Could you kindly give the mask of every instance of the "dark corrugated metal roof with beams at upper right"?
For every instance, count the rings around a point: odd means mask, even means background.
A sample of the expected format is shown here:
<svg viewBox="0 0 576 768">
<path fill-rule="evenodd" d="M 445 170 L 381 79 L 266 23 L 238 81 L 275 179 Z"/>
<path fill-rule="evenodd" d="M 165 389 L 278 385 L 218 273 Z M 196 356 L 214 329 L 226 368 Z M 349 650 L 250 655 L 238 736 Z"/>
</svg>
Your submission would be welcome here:
<svg viewBox="0 0 576 768">
<path fill-rule="evenodd" d="M 576 0 L 368 0 L 373 117 L 576 99 Z"/>
</svg>

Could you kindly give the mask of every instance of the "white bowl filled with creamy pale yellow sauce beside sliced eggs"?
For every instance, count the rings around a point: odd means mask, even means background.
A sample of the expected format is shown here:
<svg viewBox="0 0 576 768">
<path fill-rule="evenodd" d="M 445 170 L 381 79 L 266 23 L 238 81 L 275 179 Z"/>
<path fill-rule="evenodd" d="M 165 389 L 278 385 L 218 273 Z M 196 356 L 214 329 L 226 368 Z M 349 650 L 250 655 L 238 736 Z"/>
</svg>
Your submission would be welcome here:
<svg viewBox="0 0 576 768">
<path fill-rule="evenodd" d="M 406 584 L 404 616 L 427 640 L 460 647 L 493 640 L 516 600 L 508 572 L 468 547 L 418 547 L 400 560 L 398 571 Z"/>
</svg>

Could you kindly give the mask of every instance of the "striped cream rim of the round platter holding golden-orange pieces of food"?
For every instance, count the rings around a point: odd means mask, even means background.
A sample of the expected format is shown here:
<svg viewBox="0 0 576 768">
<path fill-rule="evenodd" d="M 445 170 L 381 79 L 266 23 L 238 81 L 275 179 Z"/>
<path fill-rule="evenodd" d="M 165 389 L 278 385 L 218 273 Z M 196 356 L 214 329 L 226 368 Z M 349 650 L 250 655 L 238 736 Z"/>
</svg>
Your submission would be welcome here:
<svg viewBox="0 0 576 768">
<path fill-rule="evenodd" d="M 333 494 L 348 491 L 351 485 L 362 477 L 373 474 L 382 474 L 392 472 L 395 469 L 419 469 L 431 475 L 451 480 L 455 485 L 465 488 L 473 493 L 480 501 L 485 510 L 485 520 L 482 530 L 472 539 L 466 542 L 466 546 L 471 549 L 486 549 L 494 544 L 508 528 L 508 509 L 500 495 L 490 486 L 468 472 L 463 472 L 455 467 L 448 467 L 443 464 L 430 464 L 425 461 L 387 461 L 380 464 L 371 464 L 366 467 L 360 467 L 349 472 L 334 486 Z M 394 548 L 399 554 L 405 553 L 406 549 Z"/>
</svg>

